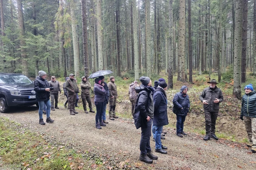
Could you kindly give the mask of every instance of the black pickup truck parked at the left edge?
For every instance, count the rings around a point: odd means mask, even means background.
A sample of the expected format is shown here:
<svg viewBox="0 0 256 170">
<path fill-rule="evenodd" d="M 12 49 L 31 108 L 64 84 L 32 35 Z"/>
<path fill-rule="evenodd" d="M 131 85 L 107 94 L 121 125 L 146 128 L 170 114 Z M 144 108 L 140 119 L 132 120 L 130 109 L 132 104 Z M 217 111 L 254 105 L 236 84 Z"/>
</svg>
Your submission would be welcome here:
<svg viewBox="0 0 256 170">
<path fill-rule="evenodd" d="M 0 73 L 0 112 L 10 107 L 38 105 L 34 83 L 23 74 Z"/>
</svg>

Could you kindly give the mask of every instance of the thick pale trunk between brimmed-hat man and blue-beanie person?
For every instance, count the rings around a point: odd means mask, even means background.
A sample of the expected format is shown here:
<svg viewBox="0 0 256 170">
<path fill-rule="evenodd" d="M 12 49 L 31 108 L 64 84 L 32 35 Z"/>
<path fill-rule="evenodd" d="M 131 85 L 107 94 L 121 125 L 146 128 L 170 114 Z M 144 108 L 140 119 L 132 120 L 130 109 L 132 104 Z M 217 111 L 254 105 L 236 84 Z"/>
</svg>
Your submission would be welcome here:
<svg viewBox="0 0 256 170">
<path fill-rule="evenodd" d="M 243 0 L 236 0 L 236 28 L 234 51 L 234 88 L 233 95 L 241 99 L 241 50 Z"/>
</svg>

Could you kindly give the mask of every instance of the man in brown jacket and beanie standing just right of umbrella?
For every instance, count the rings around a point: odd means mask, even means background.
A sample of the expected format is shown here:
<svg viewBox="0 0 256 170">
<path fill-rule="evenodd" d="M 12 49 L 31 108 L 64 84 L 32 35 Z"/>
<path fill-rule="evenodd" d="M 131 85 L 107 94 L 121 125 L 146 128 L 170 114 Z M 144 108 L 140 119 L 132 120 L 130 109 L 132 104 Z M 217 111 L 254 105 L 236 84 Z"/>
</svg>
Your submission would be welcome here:
<svg viewBox="0 0 256 170">
<path fill-rule="evenodd" d="M 114 118 L 118 118 L 116 116 L 116 99 L 117 99 L 117 88 L 115 83 L 115 77 L 109 77 L 110 82 L 108 82 L 108 89 L 109 89 L 109 119 L 115 120 Z"/>
</svg>

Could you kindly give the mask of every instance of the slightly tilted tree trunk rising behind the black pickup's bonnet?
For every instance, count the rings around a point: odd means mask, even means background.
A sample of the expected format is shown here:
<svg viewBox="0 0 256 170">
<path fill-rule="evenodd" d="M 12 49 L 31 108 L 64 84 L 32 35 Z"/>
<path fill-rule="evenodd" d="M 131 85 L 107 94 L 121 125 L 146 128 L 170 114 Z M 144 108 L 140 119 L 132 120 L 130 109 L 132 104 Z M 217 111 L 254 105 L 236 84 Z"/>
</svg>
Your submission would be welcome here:
<svg viewBox="0 0 256 170">
<path fill-rule="evenodd" d="M 24 20 L 23 20 L 23 6 L 21 0 L 17 0 L 17 9 L 18 9 L 18 22 L 20 29 L 20 52 L 21 52 L 21 63 L 22 63 L 22 74 L 29 77 L 29 69 L 28 69 L 28 61 L 25 51 L 25 28 L 24 28 Z"/>
</svg>

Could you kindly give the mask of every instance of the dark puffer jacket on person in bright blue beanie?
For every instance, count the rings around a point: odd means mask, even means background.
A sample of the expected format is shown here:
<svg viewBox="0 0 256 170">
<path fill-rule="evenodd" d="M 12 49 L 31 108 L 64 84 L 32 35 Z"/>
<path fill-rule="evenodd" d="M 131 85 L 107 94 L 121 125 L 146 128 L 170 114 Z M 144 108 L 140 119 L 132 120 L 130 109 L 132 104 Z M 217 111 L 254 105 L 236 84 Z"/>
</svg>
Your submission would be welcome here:
<svg viewBox="0 0 256 170">
<path fill-rule="evenodd" d="M 256 91 L 242 97 L 241 116 L 256 118 Z"/>
</svg>

